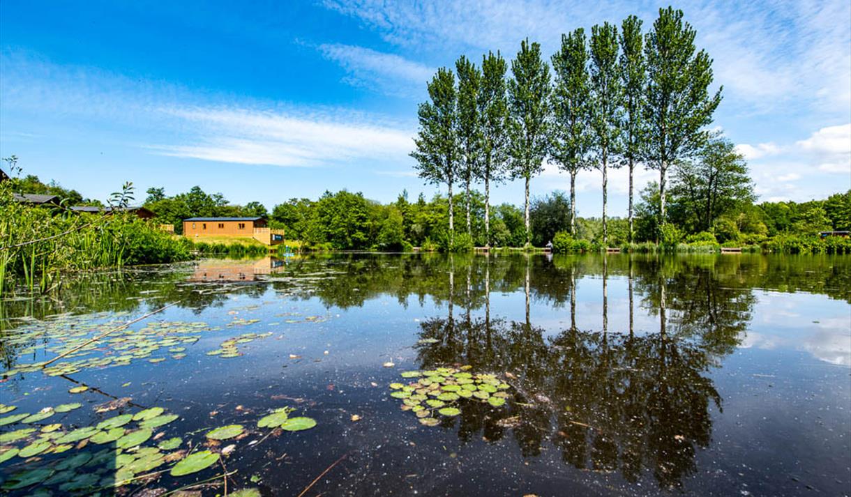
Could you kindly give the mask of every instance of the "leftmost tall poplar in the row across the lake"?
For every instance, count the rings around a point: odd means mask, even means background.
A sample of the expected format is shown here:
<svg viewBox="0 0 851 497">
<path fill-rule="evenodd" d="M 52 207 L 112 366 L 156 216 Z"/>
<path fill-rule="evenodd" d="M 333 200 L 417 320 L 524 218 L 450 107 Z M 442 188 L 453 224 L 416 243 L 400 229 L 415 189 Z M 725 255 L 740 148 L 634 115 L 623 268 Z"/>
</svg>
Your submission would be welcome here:
<svg viewBox="0 0 851 497">
<path fill-rule="evenodd" d="M 449 244 L 454 245 L 452 184 L 458 168 L 459 146 L 455 125 L 458 97 L 452 71 L 445 67 L 438 69 L 428 83 L 428 94 L 430 101 L 417 108 L 420 131 L 414 138 L 416 150 L 411 152 L 411 157 L 417 161 L 415 168 L 420 178 L 448 186 Z"/>
</svg>

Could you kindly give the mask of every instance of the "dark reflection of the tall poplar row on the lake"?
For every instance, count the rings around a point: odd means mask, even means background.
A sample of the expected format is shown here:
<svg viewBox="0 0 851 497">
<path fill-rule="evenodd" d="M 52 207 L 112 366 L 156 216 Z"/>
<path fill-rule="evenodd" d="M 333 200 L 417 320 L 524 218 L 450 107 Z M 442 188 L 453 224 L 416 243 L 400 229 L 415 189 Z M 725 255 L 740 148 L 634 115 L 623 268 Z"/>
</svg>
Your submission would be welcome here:
<svg viewBox="0 0 851 497">
<path fill-rule="evenodd" d="M 524 456 L 538 455 L 551 443 L 570 466 L 619 471 L 630 482 L 650 471 L 660 486 L 677 486 L 696 470 L 696 450 L 711 441 L 711 405 L 721 410 L 707 373 L 738 345 L 754 298 L 746 288 L 723 286 L 705 268 L 666 274 L 643 267 L 648 277 L 634 286 L 644 306 L 656 303 L 660 322 L 667 323 L 657 334 L 637 335 L 631 328 L 612 334 L 608 263 L 602 269 L 601 331 L 581 331 L 574 324 L 545 339 L 545 330 L 531 324 L 528 306 L 525 323 L 492 319 L 489 294 L 483 296 L 484 317 L 471 318 L 469 307 L 464 317 L 455 317 L 450 292 L 448 316 L 420 323 L 418 361 L 422 368 L 469 364 L 517 378 L 511 381 L 516 398 L 505 408 L 464 404 L 458 421 L 462 441 L 500 439 L 506 432 L 500 420 L 519 416 L 511 433 Z M 632 270 L 627 266 L 626 275 Z M 650 277 L 654 272 L 657 277 Z M 523 276 L 528 301 L 534 284 Z M 568 288 L 562 294 L 575 323 L 575 280 L 563 277 Z M 630 327 L 631 315 L 632 309 Z"/>
</svg>

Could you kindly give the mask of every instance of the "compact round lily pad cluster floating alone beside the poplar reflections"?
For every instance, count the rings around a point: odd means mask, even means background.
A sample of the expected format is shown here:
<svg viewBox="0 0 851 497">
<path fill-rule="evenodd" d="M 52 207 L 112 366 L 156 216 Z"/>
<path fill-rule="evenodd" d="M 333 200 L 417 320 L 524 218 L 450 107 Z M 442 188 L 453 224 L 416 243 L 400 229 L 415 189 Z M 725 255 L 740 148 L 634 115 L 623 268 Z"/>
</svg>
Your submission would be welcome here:
<svg viewBox="0 0 851 497">
<path fill-rule="evenodd" d="M 488 403 L 498 408 L 511 397 L 507 383 L 495 374 L 472 374 L 470 366 L 404 371 L 404 383 L 391 383 L 391 397 L 402 400 L 403 411 L 413 411 L 425 426 L 437 426 L 437 414 L 460 414 L 460 402 Z M 414 380 L 416 379 L 416 380 Z"/>
</svg>

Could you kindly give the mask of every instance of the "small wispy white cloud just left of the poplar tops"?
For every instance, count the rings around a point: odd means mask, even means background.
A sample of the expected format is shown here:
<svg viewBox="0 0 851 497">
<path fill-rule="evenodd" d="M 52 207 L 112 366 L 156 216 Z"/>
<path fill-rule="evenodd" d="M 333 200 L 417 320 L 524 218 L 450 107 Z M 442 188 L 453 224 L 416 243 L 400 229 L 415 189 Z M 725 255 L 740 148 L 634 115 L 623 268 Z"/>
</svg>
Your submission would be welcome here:
<svg viewBox="0 0 851 497">
<path fill-rule="evenodd" d="M 319 45 L 318 50 L 348 72 L 346 83 L 380 89 L 387 94 L 408 95 L 415 87 L 425 88 L 426 81 L 434 74 L 431 67 L 400 55 L 364 47 L 326 43 Z"/>
</svg>

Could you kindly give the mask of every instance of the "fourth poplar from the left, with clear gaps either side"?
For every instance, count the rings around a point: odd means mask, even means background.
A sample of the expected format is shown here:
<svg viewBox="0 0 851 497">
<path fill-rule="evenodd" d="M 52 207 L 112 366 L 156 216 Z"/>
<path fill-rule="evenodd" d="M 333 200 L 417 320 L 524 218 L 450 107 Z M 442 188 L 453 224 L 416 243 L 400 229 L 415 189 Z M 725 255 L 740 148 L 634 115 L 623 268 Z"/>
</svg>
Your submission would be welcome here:
<svg viewBox="0 0 851 497">
<path fill-rule="evenodd" d="M 550 124 L 550 67 L 540 56 L 540 43 L 523 40 L 511 61 L 508 82 L 511 116 L 511 177 L 525 181 L 526 245 L 529 244 L 529 180 L 540 174 L 546 157 Z"/>
</svg>

